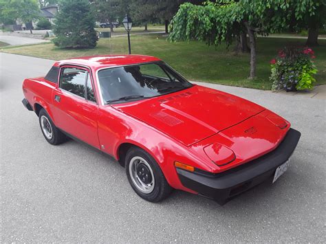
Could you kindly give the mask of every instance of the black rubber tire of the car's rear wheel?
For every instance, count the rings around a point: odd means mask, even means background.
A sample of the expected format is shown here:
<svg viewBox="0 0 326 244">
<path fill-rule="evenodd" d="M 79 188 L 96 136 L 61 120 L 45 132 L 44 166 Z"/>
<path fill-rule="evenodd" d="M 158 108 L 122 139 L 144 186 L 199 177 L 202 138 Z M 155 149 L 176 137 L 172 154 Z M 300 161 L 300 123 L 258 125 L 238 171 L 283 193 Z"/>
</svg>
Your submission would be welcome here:
<svg viewBox="0 0 326 244">
<path fill-rule="evenodd" d="M 43 129 L 44 124 L 46 124 L 48 126 L 47 122 L 50 124 L 50 129 L 48 129 L 48 130 Z M 45 109 L 41 109 L 41 111 L 39 112 L 39 124 L 40 124 L 41 131 L 42 131 L 42 134 L 43 134 L 45 140 L 47 140 L 47 142 L 49 142 L 50 144 L 58 145 L 58 144 L 61 144 L 65 141 L 67 141 L 67 137 L 65 136 L 65 134 L 63 134 L 58 128 L 56 128 L 56 126 L 52 122 L 50 116 L 47 114 Z M 47 127 L 47 128 L 49 128 L 49 127 Z M 47 131 L 47 133 L 52 134 L 52 136 L 49 137 L 49 135 L 46 135 L 45 134 L 46 131 Z"/>
</svg>

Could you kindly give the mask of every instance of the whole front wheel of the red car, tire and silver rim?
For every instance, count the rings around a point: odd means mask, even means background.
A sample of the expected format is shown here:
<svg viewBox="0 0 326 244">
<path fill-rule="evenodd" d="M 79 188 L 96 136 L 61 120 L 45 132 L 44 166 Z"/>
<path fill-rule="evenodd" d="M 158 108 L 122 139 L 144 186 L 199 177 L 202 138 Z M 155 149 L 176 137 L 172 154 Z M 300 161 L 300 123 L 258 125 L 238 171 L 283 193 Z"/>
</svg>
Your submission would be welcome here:
<svg viewBox="0 0 326 244">
<path fill-rule="evenodd" d="M 146 201 L 162 201 L 171 193 L 155 159 L 140 148 L 131 148 L 126 155 L 126 173 L 133 190 Z"/>
</svg>

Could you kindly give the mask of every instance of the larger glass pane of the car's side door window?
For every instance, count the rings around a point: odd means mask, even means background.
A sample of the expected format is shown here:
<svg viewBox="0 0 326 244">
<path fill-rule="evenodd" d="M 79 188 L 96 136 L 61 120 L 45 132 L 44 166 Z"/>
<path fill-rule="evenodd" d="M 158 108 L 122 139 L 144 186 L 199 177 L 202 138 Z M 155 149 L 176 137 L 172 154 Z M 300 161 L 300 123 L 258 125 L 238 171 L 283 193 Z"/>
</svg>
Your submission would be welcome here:
<svg viewBox="0 0 326 244">
<path fill-rule="evenodd" d="M 61 71 L 60 87 L 66 91 L 85 98 L 85 80 L 87 71 L 78 68 L 63 68 Z"/>
</svg>

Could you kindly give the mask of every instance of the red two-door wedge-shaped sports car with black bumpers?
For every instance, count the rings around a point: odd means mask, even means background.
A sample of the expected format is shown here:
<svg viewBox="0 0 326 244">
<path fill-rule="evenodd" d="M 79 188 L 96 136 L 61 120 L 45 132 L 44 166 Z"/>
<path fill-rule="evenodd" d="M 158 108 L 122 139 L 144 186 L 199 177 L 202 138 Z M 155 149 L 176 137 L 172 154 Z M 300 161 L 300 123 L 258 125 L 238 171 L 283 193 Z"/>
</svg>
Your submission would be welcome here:
<svg viewBox="0 0 326 244">
<path fill-rule="evenodd" d="M 289 165 L 301 133 L 258 104 L 188 82 L 159 58 L 89 56 L 23 81 L 50 144 L 112 155 L 147 201 L 180 189 L 223 204 Z"/>
</svg>

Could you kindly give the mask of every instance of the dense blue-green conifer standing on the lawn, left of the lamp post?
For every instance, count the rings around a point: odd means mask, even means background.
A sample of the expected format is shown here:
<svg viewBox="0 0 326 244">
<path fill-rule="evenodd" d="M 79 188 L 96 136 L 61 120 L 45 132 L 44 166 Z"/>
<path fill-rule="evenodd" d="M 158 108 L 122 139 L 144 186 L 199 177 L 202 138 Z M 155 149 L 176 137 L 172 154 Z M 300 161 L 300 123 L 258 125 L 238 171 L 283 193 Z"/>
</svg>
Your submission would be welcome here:
<svg viewBox="0 0 326 244">
<path fill-rule="evenodd" d="M 96 47 L 95 16 L 87 0 L 65 0 L 56 13 L 53 42 L 62 48 Z"/>
</svg>

